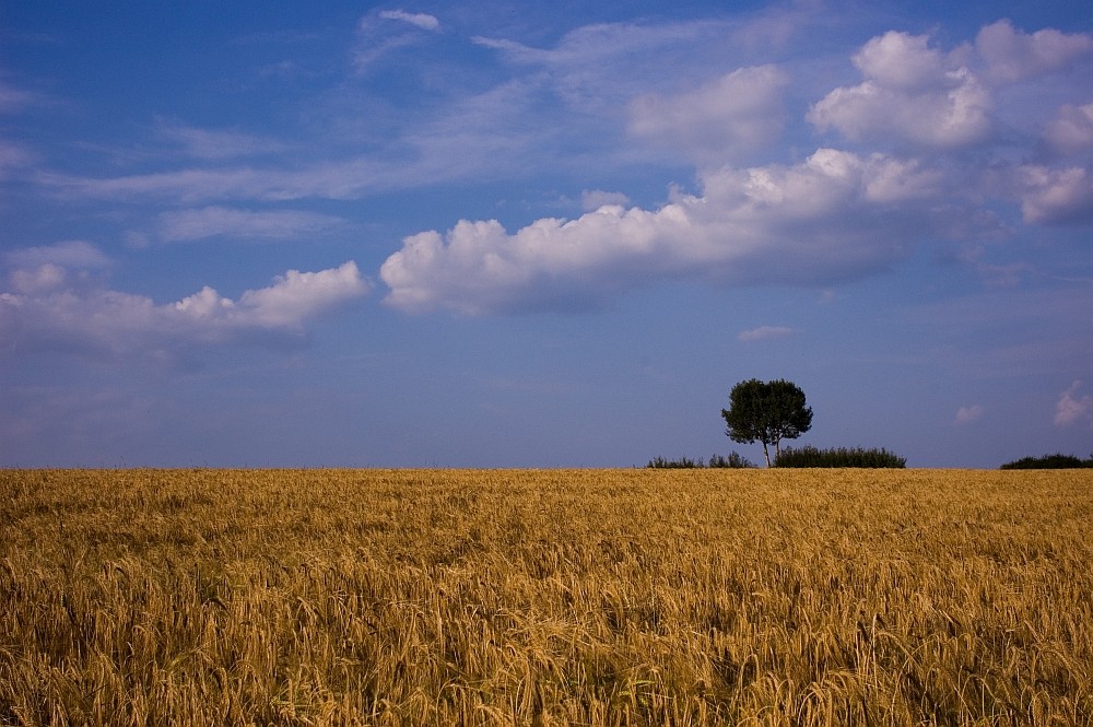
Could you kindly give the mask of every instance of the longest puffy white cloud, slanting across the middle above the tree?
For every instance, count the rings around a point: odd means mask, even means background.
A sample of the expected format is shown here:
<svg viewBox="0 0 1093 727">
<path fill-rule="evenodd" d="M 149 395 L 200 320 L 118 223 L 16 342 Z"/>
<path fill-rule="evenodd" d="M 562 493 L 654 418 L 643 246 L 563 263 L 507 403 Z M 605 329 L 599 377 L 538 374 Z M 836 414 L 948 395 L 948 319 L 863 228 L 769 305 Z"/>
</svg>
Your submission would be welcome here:
<svg viewBox="0 0 1093 727">
<path fill-rule="evenodd" d="M 928 169 L 832 149 L 790 167 L 726 167 L 702 181 L 702 196 L 677 194 L 657 210 L 606 206 L 513 234 L 496 221 L 461 221 L 444 235 L 412 235 L 380 268 L 385 301 L 408 312 L 477 315 L 595 307 L 678 277 L 846 280 L 898 258 L 938 194 Z"/>
</svg>

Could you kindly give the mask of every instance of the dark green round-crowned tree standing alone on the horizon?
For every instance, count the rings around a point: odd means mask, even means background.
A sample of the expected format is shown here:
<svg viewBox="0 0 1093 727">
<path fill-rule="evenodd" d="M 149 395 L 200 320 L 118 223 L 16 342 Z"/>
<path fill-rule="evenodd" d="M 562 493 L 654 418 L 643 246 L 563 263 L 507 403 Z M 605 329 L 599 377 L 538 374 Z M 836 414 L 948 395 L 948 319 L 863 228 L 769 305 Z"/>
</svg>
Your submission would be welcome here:
<svg viewBox="0 0 1093 727">
<path fill-rule="evenodd" d="M 791 382 L 740 382 L 729 392 L 729 408 L 721 410 L 728 425 L 725 433 L 741 444 L 763 443 L 766 466 L 771 466 L 773 444 L 775 459 L 781 453 L 783 439 L 796 439 L 812 427 L 812 408 L 806 406 L 804 391 Z"/>
</svg>

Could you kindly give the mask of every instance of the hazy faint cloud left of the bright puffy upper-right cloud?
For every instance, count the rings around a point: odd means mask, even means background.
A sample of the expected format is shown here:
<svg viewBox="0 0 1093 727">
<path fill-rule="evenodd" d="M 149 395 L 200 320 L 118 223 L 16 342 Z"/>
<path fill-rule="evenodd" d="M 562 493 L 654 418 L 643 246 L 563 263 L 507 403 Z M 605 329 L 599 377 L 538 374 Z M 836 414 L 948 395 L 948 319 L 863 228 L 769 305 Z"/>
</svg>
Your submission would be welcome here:
<svg viewBox="0 0 1093 727">
<path fill-rule="evenodd" d="M 719 166 L 775 141 L 781 132 L 781 90 L 774 66 L 741 68 L 694 91 L 646 94 L 630 105 L 627 130 L 702 166 Z"/>
</svg>

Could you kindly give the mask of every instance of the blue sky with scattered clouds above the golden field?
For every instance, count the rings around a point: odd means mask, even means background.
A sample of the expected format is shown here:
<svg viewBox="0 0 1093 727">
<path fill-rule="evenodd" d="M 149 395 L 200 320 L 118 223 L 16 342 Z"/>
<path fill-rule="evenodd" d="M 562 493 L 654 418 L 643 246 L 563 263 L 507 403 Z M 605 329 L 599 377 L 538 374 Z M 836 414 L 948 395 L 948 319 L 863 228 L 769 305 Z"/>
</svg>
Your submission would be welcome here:
<svg viewBox="0 0 1093 727">
<path fill-rule="evenodd" d="M 0 466 L 1093 452 L 1093 15 L 0 0 Z"/>
</svg>

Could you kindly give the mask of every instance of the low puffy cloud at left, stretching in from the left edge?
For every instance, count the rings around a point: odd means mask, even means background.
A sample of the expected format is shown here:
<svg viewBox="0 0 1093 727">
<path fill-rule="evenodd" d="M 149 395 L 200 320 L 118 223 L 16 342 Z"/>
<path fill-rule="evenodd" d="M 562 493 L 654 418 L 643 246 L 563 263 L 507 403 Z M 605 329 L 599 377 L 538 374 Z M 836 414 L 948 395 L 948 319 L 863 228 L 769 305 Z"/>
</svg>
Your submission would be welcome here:
<svg viewBox="0 0 1093 727">
<path fill-rule="evenodd" d="M 318 272 L 290 270 L 238 300 L 212 288 L 175 303 L 97 285 L 55 262 L 17 268 L 0 293 L 0 340 L 7 350 L 74 350 L 97 354 L 169 353 L 191 344 L 298 336 L 321 313 L 364 295 L 351 260 Z"/>
</svg>

